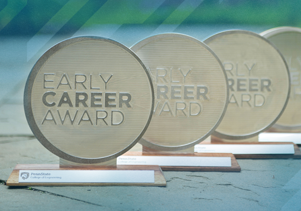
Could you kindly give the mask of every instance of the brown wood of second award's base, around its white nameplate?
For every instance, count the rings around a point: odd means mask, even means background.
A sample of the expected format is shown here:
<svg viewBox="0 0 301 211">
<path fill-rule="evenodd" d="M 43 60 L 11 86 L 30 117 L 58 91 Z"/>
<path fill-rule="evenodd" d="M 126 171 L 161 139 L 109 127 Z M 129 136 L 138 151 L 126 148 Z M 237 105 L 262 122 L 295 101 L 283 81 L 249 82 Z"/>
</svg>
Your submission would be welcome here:
<svg viewBox="0 0 301 211">
<path fill-rule="evenodd" d="M 231 153 L 142 153 L 128 151 L 125 156 L 192 156 L 192 157 L 231 157 L 231 167 L 198 167 L 198 166 L 160 166 L 165 171 L 220 171 L 220 172 L 240 172 L 240 166 Z"/>
</svg>

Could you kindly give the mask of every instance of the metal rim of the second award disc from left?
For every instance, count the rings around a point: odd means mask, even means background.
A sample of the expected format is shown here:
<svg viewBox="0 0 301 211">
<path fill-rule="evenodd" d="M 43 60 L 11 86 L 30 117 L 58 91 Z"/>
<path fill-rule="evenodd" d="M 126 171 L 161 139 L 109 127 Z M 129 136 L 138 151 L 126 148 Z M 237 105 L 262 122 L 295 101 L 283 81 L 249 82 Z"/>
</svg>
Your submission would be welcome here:
<svg viewBox="0 0 301 211">
<path fill-rule="evenodd" d="M 184 39 L 188 39 L 190 41 L 195 42 L 196 44 L 201 45 L 202 47 L 204 47 L 206 50 L 208 50 L 213 57 L 216 59 L 216 61 L 219 63 L 219 65 L 221 66 L 222 72 L 225 76 L 225 80 L 226 80 L 226 86 L 227 86 L 227 96 L 226 96 L 226 100 L 225 100 L 225 105 L 224 105 L 224 109 L 221 113 L 221 116 L 219 118 L 219 120 L 216 122 L 216 124 L 214 125 L 214 127 L 208 131 L 208 133 L 206 133 L 206 135 L 204 135 L 203 137 L 201 137 L 200 139 L 197 139 L 193 142 L 190 142 L 188 144 L 185 145 L 179 145 L 179 146 L 163 146 L 163 145 L 158 145 L 158 144 L 154 144 L 144 138 L 141 138 L 141 140 L 139 141 L 139 143 L 141 143 L 142 145 L 144 145 L 145 147 L 148 148 L 152 148 L 154 150 L 160 150 L 160 151 L 178 151 L 178 150 L 185 150 L 187 148 L 191 148 L 194 145 L 202 142 L 203 140 L 205 140 L 206 138 L 208 138 L 215 130 L 216 128 L 219 126 L 219 124 L 221 123 L 223 117 L 225 116 L 227 107 L 228 107 L 228 98 L 229 98 L 229 84 L 227 83 L 227 73 L 225 71 L 224 66 L 222 65 L 222 62 L 219 60 L 219 58 L 217 57 L 217 55 L 213 52 L 213 50 L 208 47 L 205 43 L 203 43 L 202 41 L 197 40 L 196 38 L 193 38 L 191 36 L 188 35 L 184 35 L 184 34 L 180 34 L 180 33 L 163 33 L 163 34 L 158 34 L 158 35 L 154 35 L 148 38 L 145 38 L 141 41 L 138 41 L 137 43 L 135 43 L 134 45 L 132 45 L 132 47 L 130 47 L 131 50 L 133 50 L 134 52 L 136 52 L 137 50 L 139 50 L 141 47 L 143 47 L 144 45 L 151 43 L 153 41 L 156 41 L 158 39 L 162 39 L 162 38 L 170 38 L 170 37 L 175 37 L 175 38 L 184 38 Z"/>
</svg>

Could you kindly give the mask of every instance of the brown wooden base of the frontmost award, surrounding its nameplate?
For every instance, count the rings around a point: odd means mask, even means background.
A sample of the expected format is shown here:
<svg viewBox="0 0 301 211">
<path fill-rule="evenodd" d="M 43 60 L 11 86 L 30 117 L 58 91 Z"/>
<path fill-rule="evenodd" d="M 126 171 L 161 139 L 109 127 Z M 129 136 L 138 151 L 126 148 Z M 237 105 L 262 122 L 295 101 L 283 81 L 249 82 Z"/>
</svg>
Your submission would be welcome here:
<svg viewBox="0 0 301 211">
<path fill-rule="evenodd" d="M 25 183 L 19 182 L 19 170 L 154 170 L 154 183 Z M 60 167 L 59 164 L 17 164 L 9 176 L 8 186 L 166 186 L 159 166 L 117 165 L 107 167 Z"/>
</svg>

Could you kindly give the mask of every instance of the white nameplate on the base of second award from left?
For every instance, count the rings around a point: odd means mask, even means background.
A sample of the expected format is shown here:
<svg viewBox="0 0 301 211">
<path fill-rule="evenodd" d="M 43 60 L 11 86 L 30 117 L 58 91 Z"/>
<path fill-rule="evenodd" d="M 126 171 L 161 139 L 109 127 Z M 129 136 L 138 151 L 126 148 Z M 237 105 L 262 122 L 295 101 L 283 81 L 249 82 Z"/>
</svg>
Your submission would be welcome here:
<svg viewBox="0 0 301 211">
<path fill-rule="evenodd" d="M 117 165 L 231 167 L 231 157 L 119 156 Z"/>
</svg>

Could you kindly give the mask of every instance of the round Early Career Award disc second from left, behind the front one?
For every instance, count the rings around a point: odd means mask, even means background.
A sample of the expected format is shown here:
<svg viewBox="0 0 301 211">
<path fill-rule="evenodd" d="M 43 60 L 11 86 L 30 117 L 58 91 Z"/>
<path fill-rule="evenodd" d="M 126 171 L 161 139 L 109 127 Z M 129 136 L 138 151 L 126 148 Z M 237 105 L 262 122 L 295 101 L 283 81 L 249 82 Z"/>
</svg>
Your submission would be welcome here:
<svg viewBox="0 0 301 211">
<path fill-rule="evenodd" d="M 177 151 L 203 141 L 227 107 L 228 84 L 220 60 L 202 42 L 182 34 L 146 38 L 131 49 L 152 77 L 155 106 L 140 143 Z"/>
</svg>

